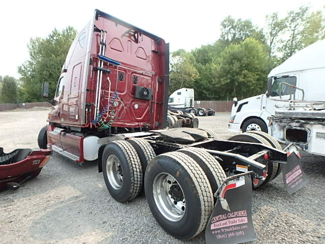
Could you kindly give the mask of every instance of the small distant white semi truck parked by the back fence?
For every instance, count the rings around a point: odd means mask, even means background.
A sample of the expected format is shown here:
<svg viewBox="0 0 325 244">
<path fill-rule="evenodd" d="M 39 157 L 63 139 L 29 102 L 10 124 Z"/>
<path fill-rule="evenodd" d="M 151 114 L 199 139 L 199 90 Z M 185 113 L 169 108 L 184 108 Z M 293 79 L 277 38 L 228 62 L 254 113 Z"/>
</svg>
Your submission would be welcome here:
<svg viewBox="0 0 325 244">
<path fill-rule="evenodd" d="M 181 88 L 169 96 L 168 109 L 172 112 L 191 113 L 197 116 L 212 116 L 212 108 L 194 108 L 194 89 Z"/>
</svg>

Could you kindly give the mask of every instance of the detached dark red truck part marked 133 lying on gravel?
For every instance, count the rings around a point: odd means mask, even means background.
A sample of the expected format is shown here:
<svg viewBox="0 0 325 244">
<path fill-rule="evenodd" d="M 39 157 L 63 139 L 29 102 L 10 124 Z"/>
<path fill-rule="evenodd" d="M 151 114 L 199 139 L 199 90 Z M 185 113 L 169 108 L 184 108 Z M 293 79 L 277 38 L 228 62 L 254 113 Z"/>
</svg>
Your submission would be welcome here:
<svg viewBox="0 0 325 244">
<path fill-rule="evenodd" d="M 51 150 L 41 149 L 40 151 L 32 151 L 19 162 L 0 165 L 0 191 L 6 190 L 9 182 L 19 184 L 26 177 L 34 178 L 38 176 L 50 158 Z"/>
</svg>

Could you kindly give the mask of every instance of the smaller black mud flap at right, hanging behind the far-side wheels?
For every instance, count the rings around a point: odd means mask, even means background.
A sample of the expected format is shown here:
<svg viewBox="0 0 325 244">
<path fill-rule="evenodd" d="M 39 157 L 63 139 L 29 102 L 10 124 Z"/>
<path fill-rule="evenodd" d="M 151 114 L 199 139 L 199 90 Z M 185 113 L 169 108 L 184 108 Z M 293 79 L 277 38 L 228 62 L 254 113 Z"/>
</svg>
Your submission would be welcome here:
<svg viewBox="0 0 325 244">
<path fill-rule="evenodd" d="M 295 145 L 287 151 L 287 162 L 283 165 L 283 181 L 286 191 L 294 194 L 308 183 L 308 178 L 301 167 L 301 156 Z"/>
</svg>

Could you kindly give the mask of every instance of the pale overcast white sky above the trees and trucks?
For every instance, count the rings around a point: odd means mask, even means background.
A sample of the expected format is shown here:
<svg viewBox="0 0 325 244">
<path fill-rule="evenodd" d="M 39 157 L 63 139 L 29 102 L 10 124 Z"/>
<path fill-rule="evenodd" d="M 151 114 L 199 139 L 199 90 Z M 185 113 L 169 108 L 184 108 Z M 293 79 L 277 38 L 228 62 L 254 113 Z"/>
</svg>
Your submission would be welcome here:
<svg viewBox="0 0 325 244">
<path fill-rule="evenodd" d="M 30 38 L 45 38 L 52 29 L 73 26 L 78 32 L 99 9 L 165 39 L 170 50 L 191 50 L 213 43 L 220 36 L 220 22 L 228 15 L 250 19 L 263 27 L 265 16 L 284 17 L 301 5 L 321 9 L 319 0 L 223 1 L 2 1 L 0 8 L 0 75 L 19 79 L 17 67 L 29 58 Z"/>
</svg>

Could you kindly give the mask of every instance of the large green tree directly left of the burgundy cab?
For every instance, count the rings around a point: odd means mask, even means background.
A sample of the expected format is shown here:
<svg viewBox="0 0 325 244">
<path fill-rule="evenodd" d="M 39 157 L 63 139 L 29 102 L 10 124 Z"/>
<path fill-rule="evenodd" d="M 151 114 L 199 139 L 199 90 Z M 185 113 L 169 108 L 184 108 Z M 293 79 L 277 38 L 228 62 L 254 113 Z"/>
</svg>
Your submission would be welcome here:
<svg viewBox="0 0 325 244">
<path fill-rule="evenodd" d="M 43 81 L 49 82 L 49 94 L 54 96 L 62 65 L 76 35 L 76 30 L 68 26 L 61 32 L 54 29 L 45 39 L 30 39 L 27 45 L 29 60 L 18 67 L 22 82 L 22 101 L 43 101 L 41 97 Z"/>
</svg>

